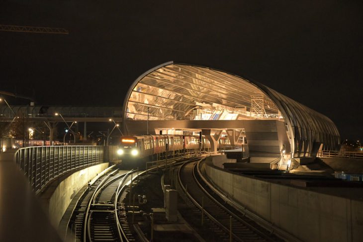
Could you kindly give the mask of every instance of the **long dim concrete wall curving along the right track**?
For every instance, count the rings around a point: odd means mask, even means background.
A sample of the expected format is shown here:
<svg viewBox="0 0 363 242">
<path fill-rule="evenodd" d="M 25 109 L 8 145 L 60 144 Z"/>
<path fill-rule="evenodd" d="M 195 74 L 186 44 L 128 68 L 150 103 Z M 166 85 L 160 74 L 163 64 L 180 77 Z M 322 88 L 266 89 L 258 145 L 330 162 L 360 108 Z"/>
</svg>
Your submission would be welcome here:
<svg viewBox="0 0 363 242">
<path fill-rule="evenodd" d="M 270 183 L 205 165 L 228 197 L 306 242 L 362 241 L 363 202 Z"/>
</svg>

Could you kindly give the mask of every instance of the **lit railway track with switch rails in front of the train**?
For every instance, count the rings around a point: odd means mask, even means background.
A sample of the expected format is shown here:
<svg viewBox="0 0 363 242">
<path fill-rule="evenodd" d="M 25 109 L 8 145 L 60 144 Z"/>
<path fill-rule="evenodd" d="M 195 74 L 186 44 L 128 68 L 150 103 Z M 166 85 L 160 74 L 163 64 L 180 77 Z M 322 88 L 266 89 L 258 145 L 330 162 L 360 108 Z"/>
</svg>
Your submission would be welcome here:
<svg viewBox="0 0 363 242">
<path fill-rule="evenodd" d="M 97 179 L 79 200 L 69 227 L 75 241 L 133 241 L 124 199 L 135 170 L 115 169 Z"/>
</svg>

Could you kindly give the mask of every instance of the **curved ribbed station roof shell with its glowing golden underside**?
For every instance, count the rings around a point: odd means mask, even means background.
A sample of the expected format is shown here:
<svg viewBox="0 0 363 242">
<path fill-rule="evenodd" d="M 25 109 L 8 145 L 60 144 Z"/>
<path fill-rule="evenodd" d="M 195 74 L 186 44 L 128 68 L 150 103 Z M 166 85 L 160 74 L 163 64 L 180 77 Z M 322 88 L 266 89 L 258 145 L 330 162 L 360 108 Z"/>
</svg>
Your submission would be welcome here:
<svg viewBox="0 0 363 242">
<path fill-rule="evenodd" d="M 275 119 L 285 122 L 293 151 L 311 149 L 314 142 L 334 150 L 340 142 L 337 127 L 328 117 L 261 83 L 174 62 L 134 81 L 123 115 L 124 120 Z"/>
</svg>

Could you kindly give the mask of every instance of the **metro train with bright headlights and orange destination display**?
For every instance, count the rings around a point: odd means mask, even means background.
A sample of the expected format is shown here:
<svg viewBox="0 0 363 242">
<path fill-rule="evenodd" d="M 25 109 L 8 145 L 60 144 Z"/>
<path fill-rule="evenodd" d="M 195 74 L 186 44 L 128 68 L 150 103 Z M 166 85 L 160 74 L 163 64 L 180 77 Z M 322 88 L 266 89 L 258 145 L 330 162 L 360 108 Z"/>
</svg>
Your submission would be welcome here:
<svg viewBox="0 0 363 242">
<path fill-rule="evenodd" d="M 229 144 L 226 137 L 222 137 L 218 142 Z M 195 153 L 209 151 L 210 143 L 202 136 L 195 135 L 140 135 L 122 136 L 117 150 L 117 155 L 125 163 L 154 161 L 166 158 L 166 156 L 178 156 L 181 153 Z"/>
</svg>

